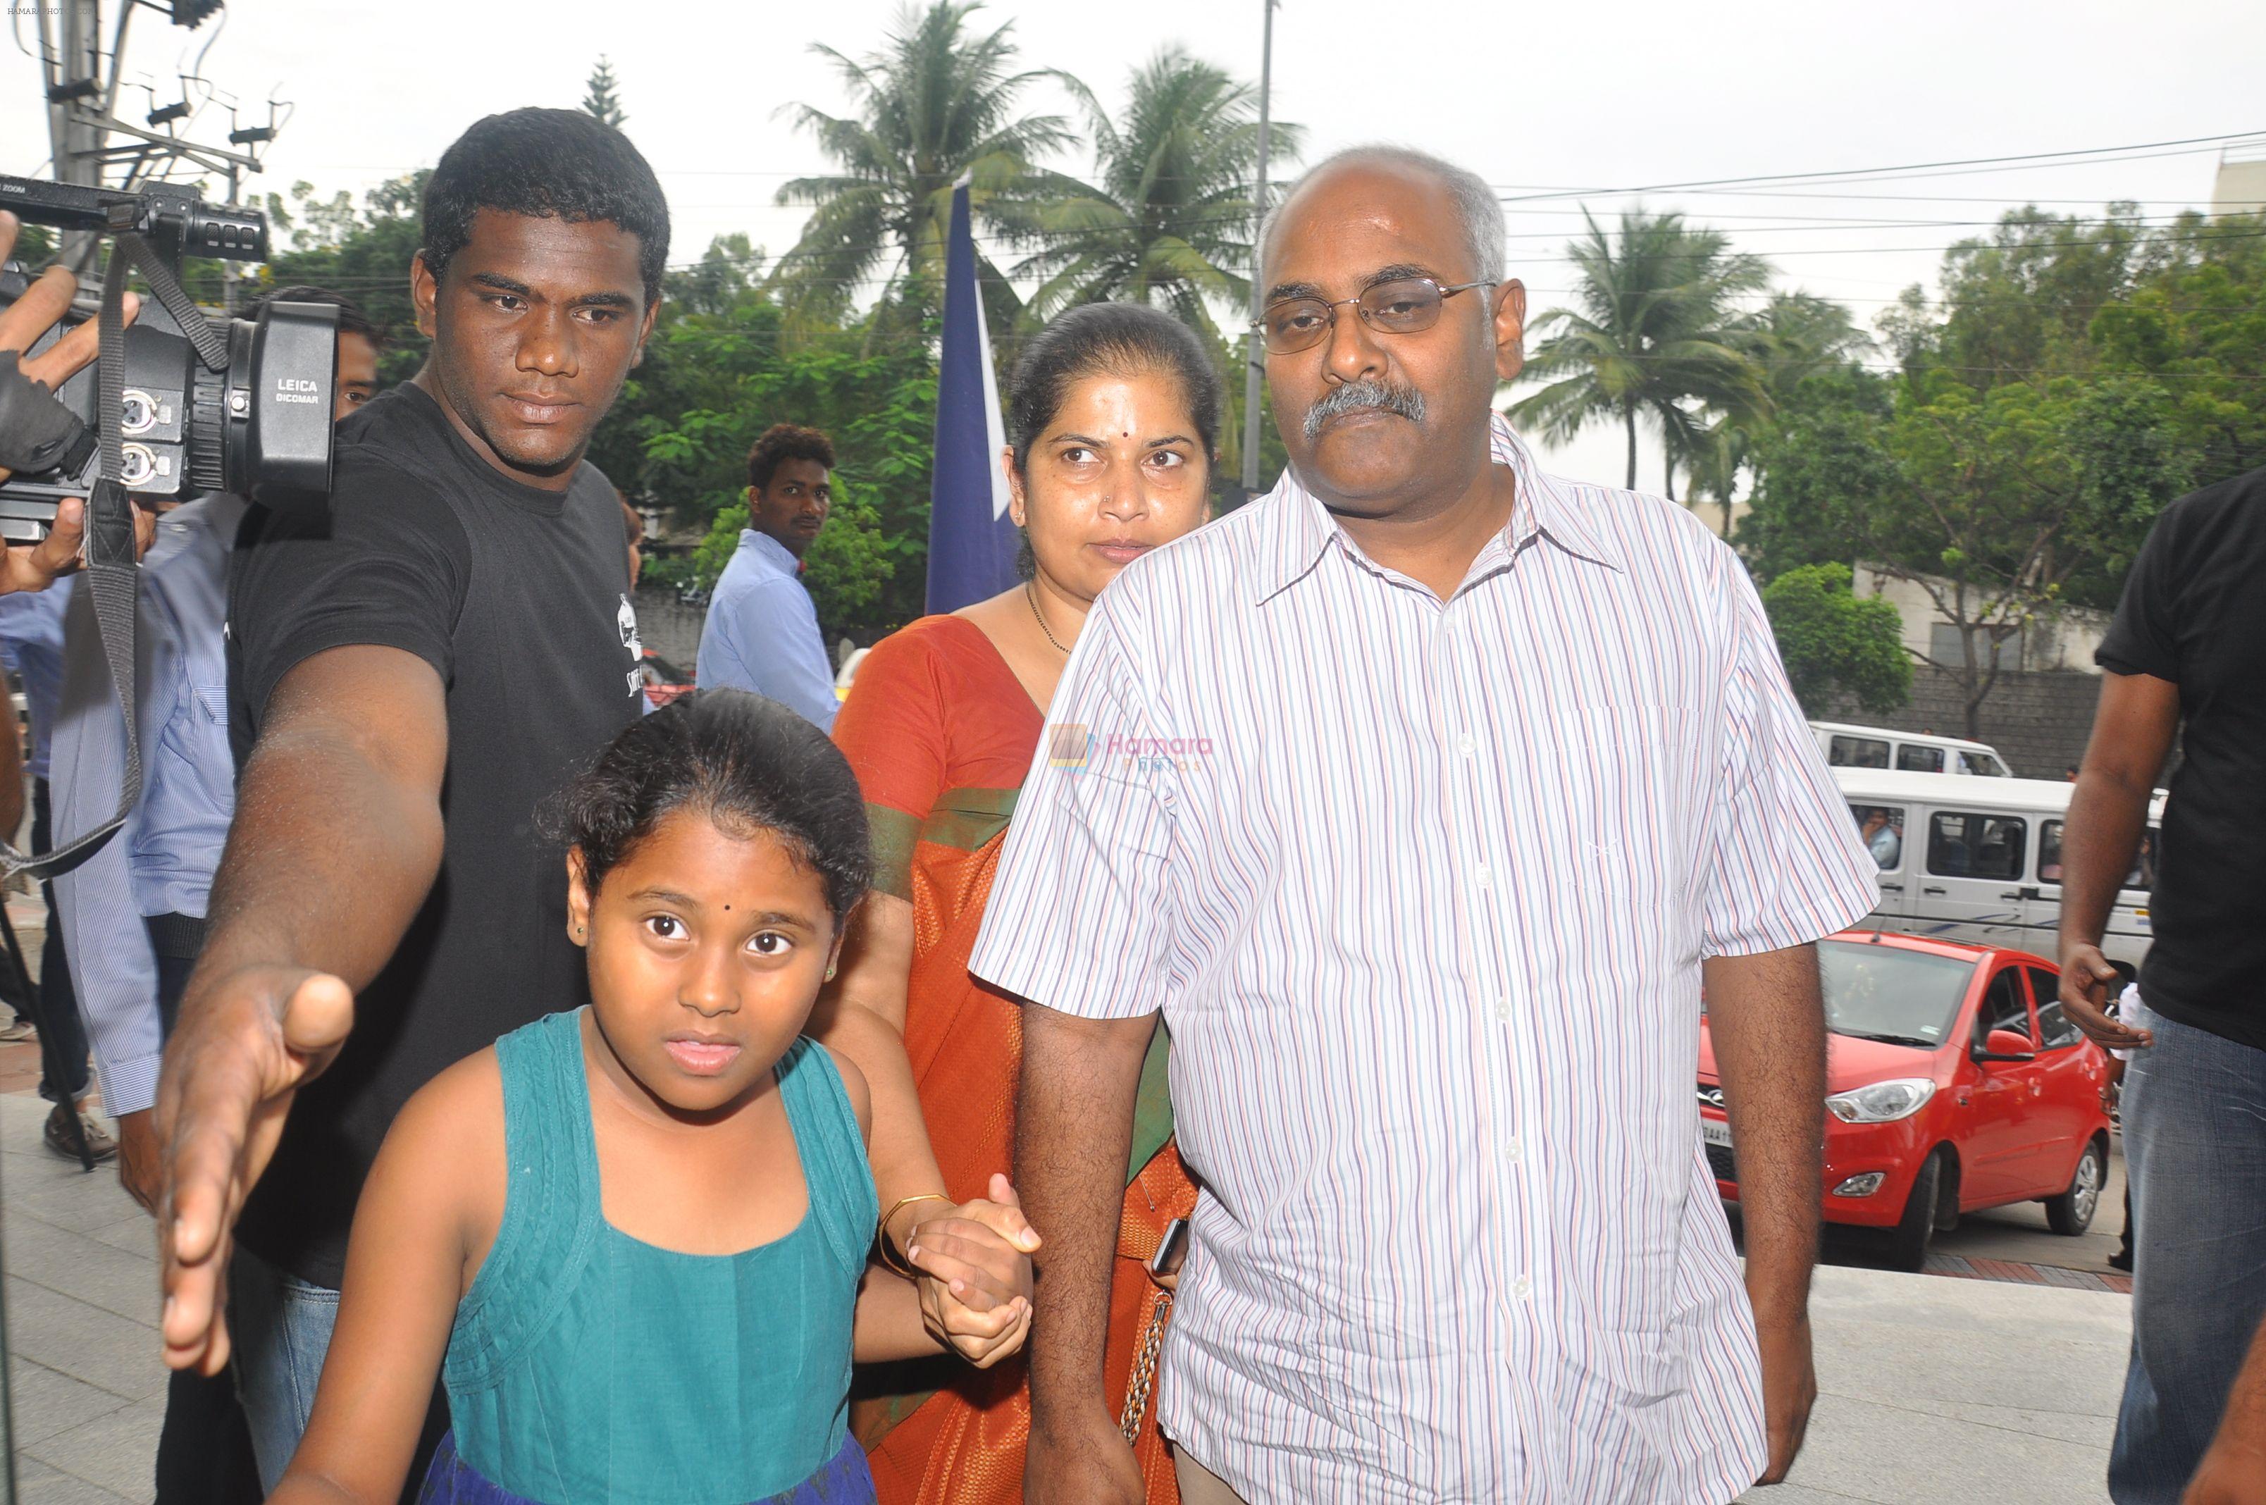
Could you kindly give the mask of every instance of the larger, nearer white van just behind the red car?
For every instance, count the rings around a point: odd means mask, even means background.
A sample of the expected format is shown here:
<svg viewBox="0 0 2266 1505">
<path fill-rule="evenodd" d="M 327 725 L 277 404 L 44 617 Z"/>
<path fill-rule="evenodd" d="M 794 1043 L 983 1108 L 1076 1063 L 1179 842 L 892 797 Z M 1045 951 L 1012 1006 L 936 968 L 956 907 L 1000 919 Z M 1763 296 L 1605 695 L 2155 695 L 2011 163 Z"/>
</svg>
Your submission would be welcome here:
<svg viewBox="0 0 2266 1505">
<path fill-rule="evenodd" d="M 1833 777 L 1881 868 L 1881 902 L 1865 916 L 1867 927 L 2055 954 L 2062 818 L 2076 784 L 1847 766 Z M 2139 859 L 2101 936 L 2101 954 L 2128 979 L 2139 975 L 2153 941 L 2148 891 L 2162 820 L 2159 789 L 2148 800 Z"/>
</svg>

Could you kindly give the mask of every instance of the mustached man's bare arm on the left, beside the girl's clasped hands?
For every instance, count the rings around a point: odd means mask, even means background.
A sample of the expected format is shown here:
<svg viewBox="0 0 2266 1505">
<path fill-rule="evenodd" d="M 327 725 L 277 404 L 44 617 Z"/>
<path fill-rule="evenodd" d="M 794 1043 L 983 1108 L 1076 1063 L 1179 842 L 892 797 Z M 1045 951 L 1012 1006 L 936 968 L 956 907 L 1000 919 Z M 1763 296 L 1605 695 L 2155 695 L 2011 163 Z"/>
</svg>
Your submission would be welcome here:
<svg viewBox="0 0 2266 1505">
<path fill-rule="evenodd" d="M 1147 1498 L 1133 1448 L 1110 1417 L 1101 1353 L 1133 1095 L 1156 1020 L 1083 1020 L 1040 1004 L 1022 1011 L 1015 1176 L 1031 1222 L 1047 1231 L 1031 1333 L 1031 1500 Z"/>
</svg>

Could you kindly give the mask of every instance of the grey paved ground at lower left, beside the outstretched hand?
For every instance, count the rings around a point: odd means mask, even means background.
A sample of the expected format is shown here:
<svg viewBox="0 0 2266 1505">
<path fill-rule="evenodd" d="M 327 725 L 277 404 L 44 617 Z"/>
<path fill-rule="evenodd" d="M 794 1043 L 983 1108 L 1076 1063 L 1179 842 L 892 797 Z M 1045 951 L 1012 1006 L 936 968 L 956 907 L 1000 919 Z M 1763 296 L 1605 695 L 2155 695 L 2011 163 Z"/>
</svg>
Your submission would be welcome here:
<svg viewBox="0 0 2266 1505">
<path fill-rule="evenodd" d="M 20 1505 L 147 1500 L 165 1367 L 156 1244 L 118 1172 L 39 1142 L 48 1104 L 0 1095 L 0 1253 Z"/>
</svg>

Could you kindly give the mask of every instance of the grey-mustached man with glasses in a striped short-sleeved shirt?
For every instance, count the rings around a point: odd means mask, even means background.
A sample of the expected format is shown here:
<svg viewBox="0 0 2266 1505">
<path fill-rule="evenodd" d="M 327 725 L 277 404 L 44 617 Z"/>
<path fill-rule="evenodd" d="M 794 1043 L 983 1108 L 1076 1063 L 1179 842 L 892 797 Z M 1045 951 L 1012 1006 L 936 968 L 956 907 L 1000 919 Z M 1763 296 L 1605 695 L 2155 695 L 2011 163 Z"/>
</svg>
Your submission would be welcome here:
<svg viewBox="0 0 2266 1505">
<path fill-rule="evenodd" d="M 1443 161 L 1301 179 L 1260 238 L 1289 474 L 1126 567 L 1056 691 L 1056 725 L 1215 752 L 1040 757 L 970 961 L 1029 1000 L 1036 1503 L 1142 1498 L 1101 1335 L 1158 1018 L 1206 1188 L 1156 1380 L 1192 1505 L 1688 1505 L 1801 1444 L 1813 941 L 1876 868 L 1736 555 L 1489 410 L 1502 261 Z"/>
</svg>

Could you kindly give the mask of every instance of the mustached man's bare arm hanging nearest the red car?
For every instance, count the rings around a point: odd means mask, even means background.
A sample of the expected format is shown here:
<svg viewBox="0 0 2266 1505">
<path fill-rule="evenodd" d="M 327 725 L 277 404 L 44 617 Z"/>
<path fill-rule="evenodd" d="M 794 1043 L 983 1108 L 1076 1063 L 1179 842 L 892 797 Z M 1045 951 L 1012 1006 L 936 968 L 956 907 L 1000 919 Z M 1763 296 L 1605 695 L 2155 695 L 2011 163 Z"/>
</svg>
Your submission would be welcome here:
<svg viewBox="0 0 2266 1505">
<path fill-rule="evenodd" d="M 1826 1013 L 1817 947 L 1709 956 L 1709 1036 L 1738 1145 L 1738 1204 L 1747 1228 L 1747 1299 L 1763 1349 L 1770 1469 L 1786 1478 L 1801 1451 L 1817 1369 L 1811 1358 L 1811 1267 L 1824 1174 Z"/>
</svg>

